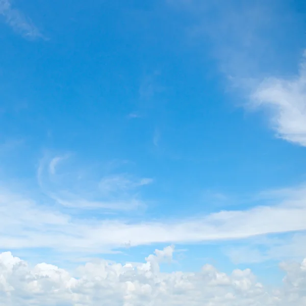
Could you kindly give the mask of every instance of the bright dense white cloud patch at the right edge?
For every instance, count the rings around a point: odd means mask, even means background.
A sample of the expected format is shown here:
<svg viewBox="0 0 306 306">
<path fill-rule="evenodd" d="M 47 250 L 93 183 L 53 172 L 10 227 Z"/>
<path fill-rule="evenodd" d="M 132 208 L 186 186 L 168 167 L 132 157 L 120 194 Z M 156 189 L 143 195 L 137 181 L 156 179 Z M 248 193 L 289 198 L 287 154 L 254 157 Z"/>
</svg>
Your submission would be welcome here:
<svg viewBox="0 0 306 306">
<path fill-rule="evenodd" d="M 291 79 L 268 78 L 252 94 L 254 105 L 269 108 L 271 124 L 279 138 L 306 146 L 306 52 L 299 75 Z"/>
</svg>

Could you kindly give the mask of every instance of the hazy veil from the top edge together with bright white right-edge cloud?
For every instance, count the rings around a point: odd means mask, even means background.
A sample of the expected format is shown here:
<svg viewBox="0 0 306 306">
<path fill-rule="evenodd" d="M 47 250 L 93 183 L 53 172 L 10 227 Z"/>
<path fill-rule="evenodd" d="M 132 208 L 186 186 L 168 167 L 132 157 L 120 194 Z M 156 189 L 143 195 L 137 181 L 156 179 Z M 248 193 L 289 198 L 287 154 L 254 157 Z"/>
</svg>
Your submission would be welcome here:
<svg viewBox="0 0 306 306">
<path fill-rule="evenodd" d="M 304 31 L 299 29 L 301 17 L 290 3 L 182 0 L 175 2 L 175 7 L 194 16 L 187 29 L 189 38 L 210 40 L 208 55 L 217 59 L 227 88 L 237 90 L 245 101 L 238 99 L 239 106 L 267 109 L 278 138 L 305 146 L 305 55 L 298 75 L 278 77 L 288 75 L 287 62 L 292 62 L 297 49 L 297 44 L 295 49 L 284 46 L 293 44 L 293 36 L 302 35 L 304 40 Z"/>
</svg>

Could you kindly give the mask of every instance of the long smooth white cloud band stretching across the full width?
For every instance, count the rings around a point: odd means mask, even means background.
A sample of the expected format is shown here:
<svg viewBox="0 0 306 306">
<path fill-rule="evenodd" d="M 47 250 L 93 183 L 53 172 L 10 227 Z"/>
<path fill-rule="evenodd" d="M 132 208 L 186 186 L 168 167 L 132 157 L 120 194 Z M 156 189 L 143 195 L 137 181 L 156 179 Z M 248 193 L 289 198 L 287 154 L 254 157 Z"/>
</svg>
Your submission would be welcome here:
<svg viewBox="0 0 306 306">
<path fill-rule="evenodd" d="M 122 219 L 122 216 L 116 219 L 116 215 L 106 217 L 100 202 L 95 207 L 97 213 L 88 215 L 85 210 L 87 206 L 93 207 L 93 201 L 61 203 L 67 209 L 78 207 L 79 210 L 58 211 L 58 207 L 46 205 L 45 200 L 32 200 L 1 190 L 0 245 L 5 249 L 48 248 L 73 256 L 81 252 L 108 252 L 126 243 L 134 247 L 153 243 L 239 241 L 306 231 L 305 195 L 304 191 L 284 200 L 278 198 L 271 206 L 149 222 L 145 221 L 145 215 L 142 221 Z M 125 204 L 119 202 L 117 209 L 122 211 Z"/>
</svg>

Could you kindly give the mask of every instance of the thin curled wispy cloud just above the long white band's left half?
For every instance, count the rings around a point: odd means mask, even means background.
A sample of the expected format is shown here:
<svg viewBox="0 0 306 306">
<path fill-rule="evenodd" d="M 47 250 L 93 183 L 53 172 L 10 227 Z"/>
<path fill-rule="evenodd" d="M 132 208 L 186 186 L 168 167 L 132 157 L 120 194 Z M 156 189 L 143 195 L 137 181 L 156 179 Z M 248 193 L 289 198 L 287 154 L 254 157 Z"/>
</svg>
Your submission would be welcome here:
<svg viewBox="0 0 306 306">
<path fill-rule="evenodd" d="M 45 157 L 40 161 L 37 180 L 41 190 L 67 208 L 129 211 L 145 207 L 139 189 L 151 184 L 152 179 L 137 179 L 128 174 L 110 174 L 100 180 L 96 173 L 80 169 L 72 159 L 59 170 L 59 163 L 71 155 Z M 96 172 L 96 170 L 94 171 Z"/>
</svg>

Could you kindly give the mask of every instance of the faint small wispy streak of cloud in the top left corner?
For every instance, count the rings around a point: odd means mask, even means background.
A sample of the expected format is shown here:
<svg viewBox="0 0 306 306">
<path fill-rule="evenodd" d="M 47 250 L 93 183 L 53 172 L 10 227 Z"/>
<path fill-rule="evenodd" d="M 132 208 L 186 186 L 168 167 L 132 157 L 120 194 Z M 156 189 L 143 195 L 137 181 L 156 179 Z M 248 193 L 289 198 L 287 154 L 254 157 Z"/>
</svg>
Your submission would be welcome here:
<svg viewBox="0 0 306 306">
<path fill-rule="evenodd" d="M 0 0 L 0 18 L 1 16 L 15 32 L 25 38 L 35 39 L 42 37 L 32 20 L 19 10 L 13 8 L 9 0 Z"/>
</svg>

